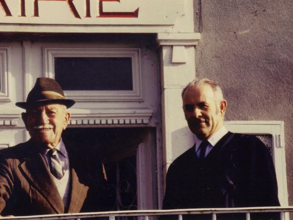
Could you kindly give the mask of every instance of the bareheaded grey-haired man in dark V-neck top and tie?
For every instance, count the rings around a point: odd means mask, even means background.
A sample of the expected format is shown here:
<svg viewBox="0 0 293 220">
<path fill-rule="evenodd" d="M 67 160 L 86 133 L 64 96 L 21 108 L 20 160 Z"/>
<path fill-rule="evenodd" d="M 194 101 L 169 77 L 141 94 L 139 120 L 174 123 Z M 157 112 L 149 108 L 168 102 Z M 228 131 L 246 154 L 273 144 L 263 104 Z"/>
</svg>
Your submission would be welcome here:
<svg viewBox="0 0 293 220">
<path fill-rule="evenodd" d="M 279 206 L 272 157 L 258 138 L 225 129 L 227 101 L 218 83 L 194 80 L 182 99 L 195 144 L 169 166 L 163 209 Z"/>
</svg>

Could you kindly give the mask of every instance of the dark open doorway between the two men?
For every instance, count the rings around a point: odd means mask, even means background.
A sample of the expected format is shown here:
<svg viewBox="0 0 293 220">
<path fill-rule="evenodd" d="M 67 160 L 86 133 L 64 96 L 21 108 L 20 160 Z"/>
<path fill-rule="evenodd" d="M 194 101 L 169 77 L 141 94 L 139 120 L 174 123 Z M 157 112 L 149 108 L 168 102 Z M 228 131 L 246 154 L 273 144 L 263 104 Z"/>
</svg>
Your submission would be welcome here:
<svg viewBox="0 0 293 220">
<path fill-rule="evenodd" d="M 63 138 L 101 157 L 112 211 L 158 208 L 155 128 L 67 128 Z"/>
</svg>

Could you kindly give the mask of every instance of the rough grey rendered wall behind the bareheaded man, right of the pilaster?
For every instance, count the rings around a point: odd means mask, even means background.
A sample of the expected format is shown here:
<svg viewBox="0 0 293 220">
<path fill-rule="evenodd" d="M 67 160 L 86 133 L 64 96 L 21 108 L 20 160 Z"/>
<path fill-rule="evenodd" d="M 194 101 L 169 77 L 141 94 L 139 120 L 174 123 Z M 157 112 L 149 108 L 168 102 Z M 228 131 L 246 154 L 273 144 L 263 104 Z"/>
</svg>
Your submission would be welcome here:
<svg viewBox="0 0 293 220">
<path fill-rule="evenodd" d="M 293 0 L 194 0 L 196 74 L 219 81 L 227 120 L 281 120 L 293 205 Z"/>
</svg>

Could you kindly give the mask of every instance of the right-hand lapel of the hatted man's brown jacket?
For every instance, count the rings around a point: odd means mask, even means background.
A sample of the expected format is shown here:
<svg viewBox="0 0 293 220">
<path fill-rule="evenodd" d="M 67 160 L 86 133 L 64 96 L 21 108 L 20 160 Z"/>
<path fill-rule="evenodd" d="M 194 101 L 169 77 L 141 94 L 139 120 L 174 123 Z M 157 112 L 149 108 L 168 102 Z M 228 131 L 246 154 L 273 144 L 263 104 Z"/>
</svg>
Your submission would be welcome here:
<svg viewBox="0 0 293 220">
<path fill-rule="evenodd" d="M 65 142 L 64 142 L 65 143 Z M 85 186 L 80 181 L 80 176 L 78 176 L 76 167 L 81 167 L 86 164 L 82 164 L 82 162 L 78 159 L 77 155 L 74 155 L 73 149 L 70 149 L 68 143 L 65 144 L 67 153 L 69 156 L 69 166 L 70 166 L 70 173 L 71 173 L 71 196 L 70 196 L 70 203 L 68 207 L 68 213 L 78 213 L 81 211 L 84 200 L 87 196 L 88 186 Z M 83 170 L 86 172 L 85 170 Z"/>
</svg>

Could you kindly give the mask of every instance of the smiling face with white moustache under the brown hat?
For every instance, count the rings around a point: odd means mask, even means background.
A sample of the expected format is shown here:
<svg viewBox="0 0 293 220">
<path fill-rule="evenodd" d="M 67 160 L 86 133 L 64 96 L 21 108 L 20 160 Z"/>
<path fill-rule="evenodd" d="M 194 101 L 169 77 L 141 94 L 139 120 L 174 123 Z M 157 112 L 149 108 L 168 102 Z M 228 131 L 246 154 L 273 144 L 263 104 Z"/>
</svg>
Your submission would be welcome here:
<svg viewBox="0 0 293 220">
<path fill-rule="evenodd" d="M 28 108 L 21 116 L 31 138 L 52 149 L 59 143 L 70 113 L 64 105 L 48 104 Z"/>
</svg>

